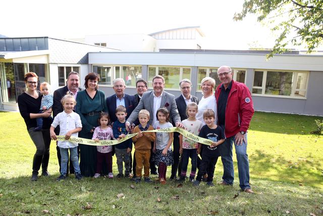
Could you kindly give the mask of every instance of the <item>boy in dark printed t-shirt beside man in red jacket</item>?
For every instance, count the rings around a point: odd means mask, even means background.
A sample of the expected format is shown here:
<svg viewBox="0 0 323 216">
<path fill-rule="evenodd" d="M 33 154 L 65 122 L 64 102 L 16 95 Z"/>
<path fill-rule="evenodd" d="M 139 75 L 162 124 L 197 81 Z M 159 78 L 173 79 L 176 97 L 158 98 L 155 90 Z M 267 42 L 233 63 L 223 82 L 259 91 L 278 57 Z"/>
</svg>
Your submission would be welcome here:
<svg viewBox="0 0 323 216">
<path fill-rule="evenodd" d="M 223 128 L 219 125 L 215 124 L 216 116 L 214 111 L 211 109 L 207 109 L 203 113 L 203 119 L 205 125 L 201 128 L 201 132 L 199 133 L 199 137 L 209 139 L 213 141 L 212 145 L 198 145 L 198 153 L 201 152 L 202 148 L 202 161 L 200 163 L 196 180 L 193 182 L 194 186 L 198 186 L 202 180 L 202 176 L 207 173 L 207 182 L 206 185 L 214 186 L 213 184 L 213 175 L 214 169 L 216 168 L 216 164 L 218 161 L 218 157 L 220 156 L 219 145 L 221 145 L 225 141 L 225 135 Z"/>
</svg>

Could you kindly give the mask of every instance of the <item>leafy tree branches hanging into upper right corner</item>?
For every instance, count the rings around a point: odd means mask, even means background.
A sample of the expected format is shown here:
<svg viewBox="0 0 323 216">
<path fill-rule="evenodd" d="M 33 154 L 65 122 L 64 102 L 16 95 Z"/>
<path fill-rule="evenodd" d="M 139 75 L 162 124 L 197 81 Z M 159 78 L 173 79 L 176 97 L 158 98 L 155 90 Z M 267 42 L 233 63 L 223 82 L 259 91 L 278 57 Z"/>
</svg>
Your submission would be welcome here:
<svg viewBox="0 0 323 216">
<path fill-rule="evenodd" d="M 279 34 L 267 59 L 288 51 L 288 45 L 305 45 L 311 53 L 322 44 L 323 0 L 245 0 L 242 12 L 233 19 L 243 20 L 247 14 L 256 14 L 258 22 L 272 23 L 272 31 Z"/>
</svg>

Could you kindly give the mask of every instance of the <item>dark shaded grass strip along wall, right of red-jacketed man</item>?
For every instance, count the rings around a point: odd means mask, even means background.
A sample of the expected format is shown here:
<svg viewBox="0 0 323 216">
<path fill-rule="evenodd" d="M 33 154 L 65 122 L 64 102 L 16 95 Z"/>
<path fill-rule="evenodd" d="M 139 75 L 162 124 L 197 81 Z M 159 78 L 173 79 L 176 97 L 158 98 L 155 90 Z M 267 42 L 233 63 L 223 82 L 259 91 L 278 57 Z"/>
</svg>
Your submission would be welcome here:
<svg viewBox="0 0 323 216">
<path fill-rule="evenodd" d="M 278 134 L 305 135 L 316 130 L 315 119 L 323 120 L 318 116 L 255 112 L 249 129 Z"/>
</svg>

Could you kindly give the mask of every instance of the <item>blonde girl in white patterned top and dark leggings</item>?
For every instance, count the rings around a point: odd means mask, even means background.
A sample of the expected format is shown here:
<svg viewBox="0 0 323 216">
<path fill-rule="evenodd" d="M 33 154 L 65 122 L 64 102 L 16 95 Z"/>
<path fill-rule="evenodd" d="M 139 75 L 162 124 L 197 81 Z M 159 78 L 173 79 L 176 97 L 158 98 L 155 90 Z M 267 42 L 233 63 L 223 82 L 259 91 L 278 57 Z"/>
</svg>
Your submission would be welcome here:
<svg viewBox="0 0 323 216">
<path fill-rule="evenodd" d="M 197 108 L 197 104 L 194 102 L 187 104 L 186 115 L 188 116 L 188 118 L 182 121 L 184 129 L 194 135 L 198 135 L 200 133 L 201 127 L 203 126 L 203 123 L 195 117 L 197 113 Z M 192 168 L 190 174 L 190 181 L 192 182 L 195 178 L 196 172 L 198 143 L 186 137 L 183 137 L 182 135 L 180 135 L 179 140 L 180 154 L 182 154 L 182 171 L 180 181 L 185 181 L 188 159 L 191 158 Z"/>
</svg>

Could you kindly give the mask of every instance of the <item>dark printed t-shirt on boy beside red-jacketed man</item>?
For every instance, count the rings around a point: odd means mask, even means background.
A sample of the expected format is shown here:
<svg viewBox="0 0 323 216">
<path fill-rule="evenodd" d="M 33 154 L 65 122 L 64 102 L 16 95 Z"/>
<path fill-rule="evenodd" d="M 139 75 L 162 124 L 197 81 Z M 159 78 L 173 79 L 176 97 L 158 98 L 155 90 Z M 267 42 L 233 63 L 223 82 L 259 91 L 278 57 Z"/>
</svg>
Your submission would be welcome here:
<svg viewBox="0 0 323 216">
<path fill-rule="evenodd" d="M 204 125 L 202 126 L 198 136 L 201 138 L 209 139 L 213 142 L 218 142 L 219 140 L 225 139 L 224 131 L 221 126 L 218 126 L 216 129 L 211 129 L 207 125 Z M 211 148 L 208 145 L 202 144 L 202 156 L 220 156 L 220 146 Z"/>
</svg>

